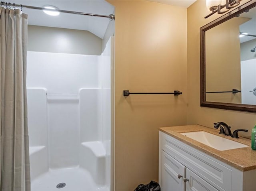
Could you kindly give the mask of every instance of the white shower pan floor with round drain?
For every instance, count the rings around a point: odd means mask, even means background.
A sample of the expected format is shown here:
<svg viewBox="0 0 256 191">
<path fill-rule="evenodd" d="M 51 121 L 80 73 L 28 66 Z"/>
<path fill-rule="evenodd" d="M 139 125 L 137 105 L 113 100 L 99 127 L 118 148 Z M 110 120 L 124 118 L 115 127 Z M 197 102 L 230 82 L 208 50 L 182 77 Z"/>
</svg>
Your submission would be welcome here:
<svg viewBox="0 0 256 191">
<path fill-rule="evenodd" d="M 65 183 L 57 188 L 59 183 Z M 31 182 L 31 191 L 109 191 L 96 185 L 90 173 L 79 167 L 50 169 Z"/>
</svg>

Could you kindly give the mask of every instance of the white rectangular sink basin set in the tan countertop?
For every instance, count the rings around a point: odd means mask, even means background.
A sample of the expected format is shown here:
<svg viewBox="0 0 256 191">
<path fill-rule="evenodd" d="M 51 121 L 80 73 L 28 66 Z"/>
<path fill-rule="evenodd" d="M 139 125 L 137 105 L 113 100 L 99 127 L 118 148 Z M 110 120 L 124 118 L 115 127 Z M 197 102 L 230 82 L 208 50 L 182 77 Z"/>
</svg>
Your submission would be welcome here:
<svg viewBox="0 0 256 191">
<path fill-rule="evenodd" d="M 248 147 L 247 145 L 210 134 L 205 131 L 187 132 L 181 134 L 219 151 Z"/>
</svg>

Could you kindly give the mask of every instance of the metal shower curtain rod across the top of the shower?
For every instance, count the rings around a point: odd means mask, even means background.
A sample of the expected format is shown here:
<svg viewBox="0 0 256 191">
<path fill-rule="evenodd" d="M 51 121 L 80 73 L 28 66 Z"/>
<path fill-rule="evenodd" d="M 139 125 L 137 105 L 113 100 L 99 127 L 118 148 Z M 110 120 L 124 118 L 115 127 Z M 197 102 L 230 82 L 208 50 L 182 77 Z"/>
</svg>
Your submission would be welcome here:
<svg viewBox="0 0 256 191">
<path fill-rule="evenodd" d="M 99 15 L 99 14 L 91 14 L 91 13 L 83 13 L 83 12 L 77 12 L 77 11 L 67 11 L 67 10 L 53 10 L 53 9 L 47 9 L 43 7 L 34 7 L 34 6 L 28 6 L 28 5 L 22 5 L 22 4 L 15 4 L 15 3 L 7 3 L 7 2 L 1 2 L 2 6 L 9 6 L 11 7 L 20 7 L 21 10 L 22 8 L 28 8 L 28 9 L 37 9 L 37 10 L 49 10 L 52 12 L 61 12 L 61 13 L 71 13 L 71 14 L 78 14 L 78 15 L 88 15 L 88 16 L 96 16 L 96 17 L 104 17 L 104 18 L 109 18 L 111 21 L 115 19 L 115 16 L 113 14 L 110 15 Z"/>
</svg>

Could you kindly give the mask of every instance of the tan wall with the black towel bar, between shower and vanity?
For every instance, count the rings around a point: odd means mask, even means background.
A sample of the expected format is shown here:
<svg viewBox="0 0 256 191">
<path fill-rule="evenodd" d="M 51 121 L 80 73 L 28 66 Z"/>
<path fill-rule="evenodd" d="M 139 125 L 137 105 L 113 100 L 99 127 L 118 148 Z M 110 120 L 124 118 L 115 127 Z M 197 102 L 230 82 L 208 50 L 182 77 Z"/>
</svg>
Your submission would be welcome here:
<svg viewBox="0 0 256 191">
<path fill-rule="evenodd" d="M 115 21 L 115 190 L 158 181 L 158 128 L 186 124 L 186 8 L 108 1 Z M 182 95 L 130 95 L 173 92 Z"/>
</svg>

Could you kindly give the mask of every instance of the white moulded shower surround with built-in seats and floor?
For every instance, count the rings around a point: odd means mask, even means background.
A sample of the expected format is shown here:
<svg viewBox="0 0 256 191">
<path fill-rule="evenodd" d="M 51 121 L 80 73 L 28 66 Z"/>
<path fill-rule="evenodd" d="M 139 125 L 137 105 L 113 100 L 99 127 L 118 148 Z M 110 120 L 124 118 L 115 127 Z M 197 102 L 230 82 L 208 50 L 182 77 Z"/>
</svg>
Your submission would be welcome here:
<svg viewBox="0 0 256 191">
<path fill-rule="evenodd" d="M 28 52 L 32 191 L 109 190 L 110 43 L 101 56 Z"/>
</svg>

